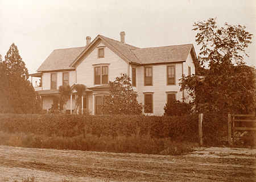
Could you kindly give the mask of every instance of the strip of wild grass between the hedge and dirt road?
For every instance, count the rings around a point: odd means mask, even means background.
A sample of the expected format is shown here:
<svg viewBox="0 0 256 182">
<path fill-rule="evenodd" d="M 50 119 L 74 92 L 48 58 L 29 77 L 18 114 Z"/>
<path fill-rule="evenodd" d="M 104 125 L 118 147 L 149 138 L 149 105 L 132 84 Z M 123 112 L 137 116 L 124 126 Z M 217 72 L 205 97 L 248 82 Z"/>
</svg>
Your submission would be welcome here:
<svg viewBox="0 0 256 182">
<path fill-rule="evenodd" d="M 75 137 L 48 137 L 25 133 L 0 132 L 0 145 L 40 149 L 69 149 L 108 151 L 113 153 L 142 153 L 182 155 L 193 151 L 197 143 L 177 142 L 171 138 L 151 138 L 133 134 L 127 136 L 100 136 L 85 134 Z M 164 153 L 161 153 L 165 151 Z"/>
</svg>

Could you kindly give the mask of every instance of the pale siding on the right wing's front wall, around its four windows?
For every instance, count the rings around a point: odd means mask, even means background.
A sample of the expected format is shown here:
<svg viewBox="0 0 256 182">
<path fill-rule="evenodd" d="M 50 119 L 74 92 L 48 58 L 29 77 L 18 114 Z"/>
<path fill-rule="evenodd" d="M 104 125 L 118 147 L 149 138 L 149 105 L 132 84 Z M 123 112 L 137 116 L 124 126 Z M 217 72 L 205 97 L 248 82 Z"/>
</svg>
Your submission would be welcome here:
<svg viewBox="0 0 256 182">
<path fill-rule="evenodd" d="M 175 65 L 175 85 L 167 85 L 167 66 Z M 164 106 L 167 103 L 166 92 L 176 92 L 176 99 L 182 101 L 182 92 L 180 92 L 179 79 L 182 75 L 182 64 L 153 65 L 153 86 L 144 86 L 144 67 L 137 67 L 138 78 L 138 101 L 144 104 L 144 92 L 153 94 L 153 111 L 152 115 L 163 115 Z"/>
</svg>

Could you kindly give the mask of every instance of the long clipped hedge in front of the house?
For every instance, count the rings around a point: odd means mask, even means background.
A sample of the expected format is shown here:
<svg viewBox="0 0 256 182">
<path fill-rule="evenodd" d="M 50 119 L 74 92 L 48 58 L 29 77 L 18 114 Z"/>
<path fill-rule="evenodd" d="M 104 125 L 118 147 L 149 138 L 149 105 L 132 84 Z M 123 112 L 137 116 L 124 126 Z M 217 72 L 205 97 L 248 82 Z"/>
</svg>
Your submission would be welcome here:
<svg viewBox="0 0 256 182">
<path fill-rule="evenodd" d="M 48 137 L 149 136 L 197 142 L 198 116 L 0 115 L 0 130 Z"/>
</svg>

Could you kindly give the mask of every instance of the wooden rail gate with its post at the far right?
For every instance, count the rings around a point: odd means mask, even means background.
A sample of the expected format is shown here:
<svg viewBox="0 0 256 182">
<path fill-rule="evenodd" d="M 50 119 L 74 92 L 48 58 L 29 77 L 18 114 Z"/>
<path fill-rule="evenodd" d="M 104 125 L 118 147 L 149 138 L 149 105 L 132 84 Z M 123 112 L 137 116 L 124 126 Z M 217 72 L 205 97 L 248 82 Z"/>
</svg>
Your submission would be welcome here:
<svg viewBox="0 0 256 182">
<path fill-rule="evenodd" d="M 243 119 L 241 119 L 241 117 Z M 245 118 L 250 118 L 250 119 L 245 119 Z M 251 119 L 253 118 L 253 119 Z M 233 145 L 235 139 L 234 138 L 238 138 L 241 136 L 236 136 L 235 135 L 235 130 L 256 130 L 256 128 L 248 128 L 248 127 L 240 127 L 240 126 L 235 126 L 235 122 L 254 122 L 254 124 L 256 123 L 256 119 L 255 119 L 255 114 L 253 115 L 228 115 L 228 127 L 229 127 L 229 136 L 228 136 L 228 141 L 229 141 L 229 145 Z M 232 141 L 233 139 L 233 141 Z"/>
</svg>

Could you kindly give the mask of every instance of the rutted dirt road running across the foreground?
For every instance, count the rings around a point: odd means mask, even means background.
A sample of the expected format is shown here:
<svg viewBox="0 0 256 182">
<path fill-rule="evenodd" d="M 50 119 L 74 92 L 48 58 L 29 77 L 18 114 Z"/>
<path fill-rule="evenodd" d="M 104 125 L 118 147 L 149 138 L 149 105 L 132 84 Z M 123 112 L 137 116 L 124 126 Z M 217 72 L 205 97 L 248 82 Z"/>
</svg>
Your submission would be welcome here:
<svg viewBox="0 0 256 182">
<path fill-rule="evenodd" d="M 0 146 L 0 180 L 256 181 L 256 150 L 201 148 L 184 156 Z"/>
</svg>

